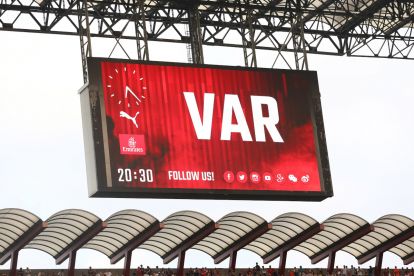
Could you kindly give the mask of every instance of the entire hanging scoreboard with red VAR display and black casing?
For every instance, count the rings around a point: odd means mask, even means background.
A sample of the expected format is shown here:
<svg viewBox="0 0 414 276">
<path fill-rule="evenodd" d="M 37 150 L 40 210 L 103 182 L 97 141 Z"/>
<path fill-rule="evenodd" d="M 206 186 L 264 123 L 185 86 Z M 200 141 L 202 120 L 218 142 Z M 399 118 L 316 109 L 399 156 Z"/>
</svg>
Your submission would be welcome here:
<svg viewBox="0 0 414 276">
<path fill-rule="evenodd" d="M 96 197 L 332 196 L 316 72 L 88 60 Z"/>
</svg>

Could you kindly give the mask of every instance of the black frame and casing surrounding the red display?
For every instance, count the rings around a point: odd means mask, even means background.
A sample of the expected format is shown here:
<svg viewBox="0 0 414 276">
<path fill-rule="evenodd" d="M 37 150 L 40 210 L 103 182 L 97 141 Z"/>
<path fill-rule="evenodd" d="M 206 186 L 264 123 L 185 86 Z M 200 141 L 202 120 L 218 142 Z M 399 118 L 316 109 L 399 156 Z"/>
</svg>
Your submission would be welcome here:
<svg viewBox="0 0 414 276">
<path fill-rule="evenodd" d="M 88 58 L 88 83 L 80 89 L 82 121 L 85 142 L 85 157 L 90 197 L 107 198 L 170 198 L 170 199 L 231 199 L 231 200 L 280 200 L 280 201 L 322 201 L 333 196 L 328 150 L 325 139 L 322 106 L 320 101 L 317 73 L 296 71 L 315 80 L 310 88 L 308 103 L 314 127 L 316 155 L 318 160 L 320 192 L 277 191 L 277 190 L 221 190 L 182 188 L 124 188 L 108 187 L 112 181 L 108 133 L 106 131 L 105 103 L 102 87 L 101 62 L 123 62 L 167 66 L 188 66 L 195 68 L 219 68 L 244 71 L 292 70 L 246 68 L 237 66 L 194 65 L 172 62 L 131 61 L 122 59 Z M 111 182 L 112 183 L 112 182 Z"/>
</svg>

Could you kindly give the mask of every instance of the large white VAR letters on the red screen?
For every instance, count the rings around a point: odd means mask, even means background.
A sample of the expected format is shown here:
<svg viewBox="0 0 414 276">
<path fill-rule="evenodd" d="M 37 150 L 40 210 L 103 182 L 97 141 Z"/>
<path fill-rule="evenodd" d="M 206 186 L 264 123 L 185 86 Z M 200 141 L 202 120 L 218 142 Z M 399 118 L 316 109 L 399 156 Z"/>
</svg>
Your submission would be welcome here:
<svg viewBox="0 0 414 276">
<path fill-rule="evenodd" d="M 199 140 L 210 140 L 215 94 L 204 93 L 203 109 L 200 111 L 194 93 L 183 93 L 197 138 Z M 265 129 L 267 129 L 273 142 L 283 143 L 283 138 L 276 128 L 276 125 L 279 123 L 279 112 L 276 99 L 268 96 L 250 96 L 250 100 L 255 141 L 266 142 Z M 267 116 L 263 114 L 264 107 L 267 107 Z M 232 122 L 233 116 L 237 123 Z M 232 133 L 240 133 L 243 141 L 253 141 L 239 96 L 235 94 L 225 94 L 220 140 L 230 141 Z"/>
</svg>

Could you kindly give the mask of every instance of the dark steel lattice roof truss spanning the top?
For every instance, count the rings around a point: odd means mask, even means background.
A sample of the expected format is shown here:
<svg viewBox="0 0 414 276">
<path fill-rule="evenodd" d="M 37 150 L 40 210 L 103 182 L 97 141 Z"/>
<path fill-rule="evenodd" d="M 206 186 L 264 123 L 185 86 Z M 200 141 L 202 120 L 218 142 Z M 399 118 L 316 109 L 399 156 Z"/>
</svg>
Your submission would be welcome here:
<svg viewBox="0 0 414 276">
<path fill-rule="evenodd" d="M 186 44 L 197 64 L 208 46 L 239 48 L 253 67 L 266 50 L 296 69 L 308 53 L 414 59 L 413 29 L 409 0 L 0 1 L 0 30 L 79 36 L 85 78 L 86 57 L 148 60 L 149 42 Z M 95 38 L 108 53 L 92 54 Z"/>
</svg>

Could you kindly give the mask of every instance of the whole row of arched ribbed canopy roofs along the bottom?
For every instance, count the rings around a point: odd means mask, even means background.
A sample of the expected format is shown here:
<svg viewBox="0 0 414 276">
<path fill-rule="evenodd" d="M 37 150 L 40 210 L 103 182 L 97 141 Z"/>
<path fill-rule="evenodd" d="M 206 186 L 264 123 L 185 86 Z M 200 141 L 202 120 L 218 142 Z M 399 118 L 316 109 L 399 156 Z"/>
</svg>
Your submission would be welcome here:
<svg viewBox="0 0 414 276">
<path fill-rule="evenodd" d="M 0 209 L 0 262 L 11 259 L 10 275 L 16 275 L 21 249 L 44 251 L 61 263 L 69 258 L 68 275 L 73 275 L 76 252 L 81 248 L 105 254 L 111 263 L 124 258 L 129 272 L 135 248 L 158 254 L 164 263 L 178 257 L 178 275 L 183 275 L 185 252 L 201 250 L 216 263 L 230 257 L 235 266 L 237 252 L 250 250 L 270 262 L 279 257 L 284 269 L 287 252 L 296 250 L 312 263 L 329 258 L 333 267 L 339 250 L 353 255 L 360 264 L 376 258 L 376 273 L 385 251 L 400 256 L 404 264 L 413 261 L 414 221 L 402 215 L 386 215 L 373 224 L 353 214 L 336 214 L 323 223 L 301 213 L 285 213 L 270 224 L 249 212 L 233 212 L 217 223 L 202 213 L 176 212 L 161 223 L 138 210 L 123 210 L 105 222 L 84 210 L 64 210 L 43 222 L 20 209 Z"/>
</svg>

